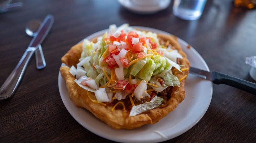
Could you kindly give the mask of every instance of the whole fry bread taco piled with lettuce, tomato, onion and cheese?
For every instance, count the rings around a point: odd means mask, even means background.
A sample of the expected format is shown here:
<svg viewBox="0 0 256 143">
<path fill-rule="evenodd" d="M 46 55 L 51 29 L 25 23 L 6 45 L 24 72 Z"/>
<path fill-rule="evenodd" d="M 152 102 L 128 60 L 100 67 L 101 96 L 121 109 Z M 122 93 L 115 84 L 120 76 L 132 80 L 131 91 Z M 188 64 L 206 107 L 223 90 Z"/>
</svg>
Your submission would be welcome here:
<svg viewBox="0 0 256 143">
<path fill-rule="evenodd" d="M 185 97 L 190 65 L 172 35 L 113 24 L 104 35 L 73 46 L 61 60 L 72 102 L 114 129 L 156 123 Z"/>
</svg>

